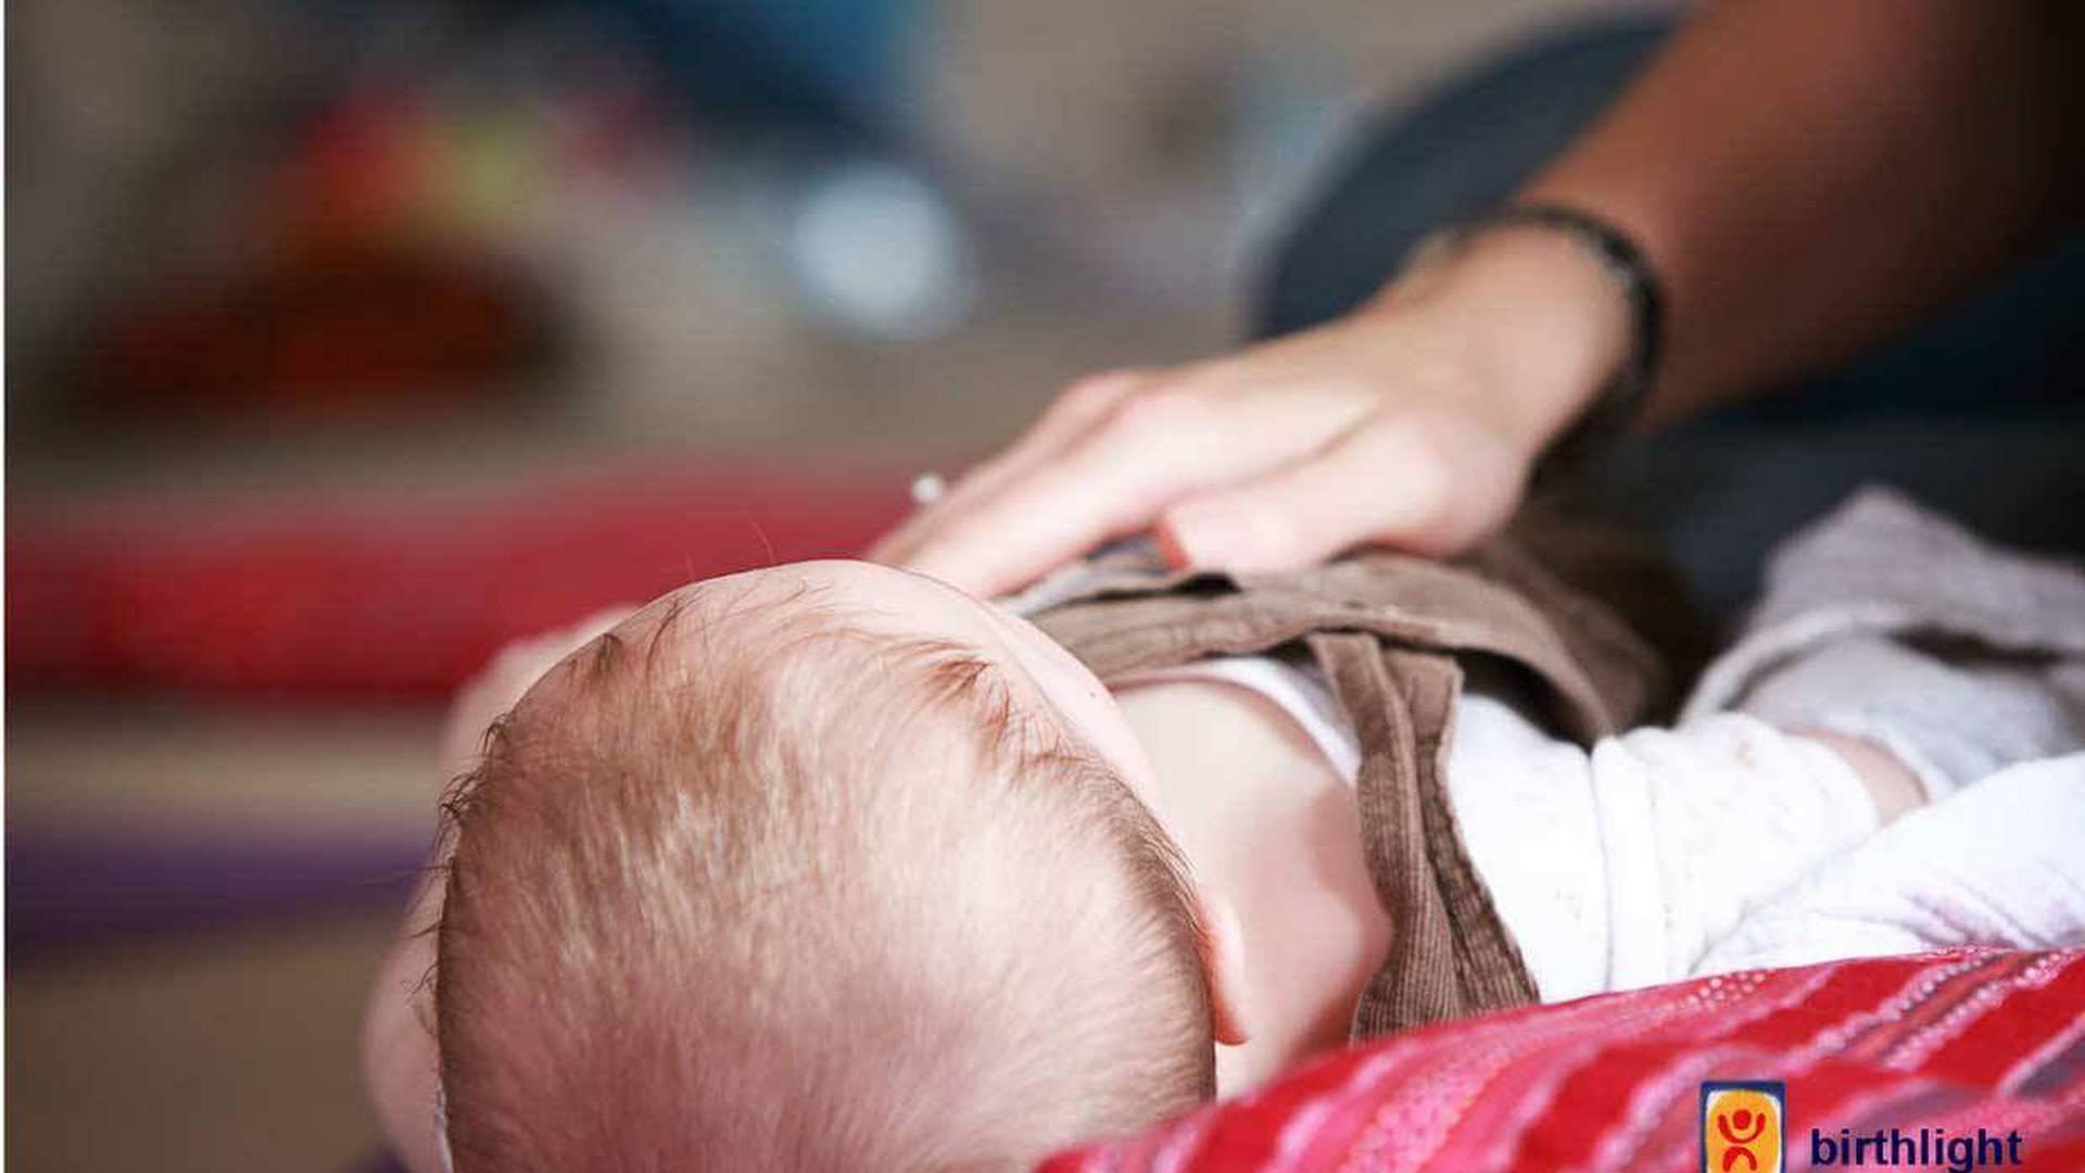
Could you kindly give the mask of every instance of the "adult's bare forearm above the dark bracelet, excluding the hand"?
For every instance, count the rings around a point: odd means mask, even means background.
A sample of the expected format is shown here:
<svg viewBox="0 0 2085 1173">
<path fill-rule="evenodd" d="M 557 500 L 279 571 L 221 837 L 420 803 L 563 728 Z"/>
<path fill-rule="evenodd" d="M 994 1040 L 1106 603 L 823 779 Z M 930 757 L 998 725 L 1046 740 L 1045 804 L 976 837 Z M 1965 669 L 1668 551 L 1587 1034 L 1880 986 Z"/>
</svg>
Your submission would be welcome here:
<svg viewBox="0 0 2085 1173">
<path fill-rule="evenodd" d="M 1731 0 L 1522 192 L 1612 219 L 1666 282 L 1651 415 L 1845 357 L 2068 211 L 2085 10 Z"/>
</svg>

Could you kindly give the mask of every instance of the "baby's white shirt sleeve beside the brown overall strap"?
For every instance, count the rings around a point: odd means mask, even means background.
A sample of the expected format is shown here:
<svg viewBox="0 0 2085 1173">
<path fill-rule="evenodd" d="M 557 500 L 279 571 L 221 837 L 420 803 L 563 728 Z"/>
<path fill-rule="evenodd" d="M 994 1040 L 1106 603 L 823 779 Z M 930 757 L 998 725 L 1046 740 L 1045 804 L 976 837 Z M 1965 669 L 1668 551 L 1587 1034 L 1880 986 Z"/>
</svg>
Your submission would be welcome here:
<svg viewBox="0 0 2085 1173">
<path fill-rule="evenodd" d="M 1449 795 L 1543 1002 L 1695 973 L 1745 916 L 1876 829 L 1837 753 L 1741 714 L 1587 753 L 1466 695 Z"/>
</svg>

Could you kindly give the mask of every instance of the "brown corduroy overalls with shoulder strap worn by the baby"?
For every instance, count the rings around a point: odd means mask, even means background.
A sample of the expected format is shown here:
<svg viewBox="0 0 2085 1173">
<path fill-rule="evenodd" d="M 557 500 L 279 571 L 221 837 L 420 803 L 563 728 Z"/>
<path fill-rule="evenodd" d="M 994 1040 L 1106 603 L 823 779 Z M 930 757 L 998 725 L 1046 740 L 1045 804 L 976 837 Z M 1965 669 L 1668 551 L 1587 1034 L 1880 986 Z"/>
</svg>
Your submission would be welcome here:
<svg viewBox="0 0 2085 1173">
<path fill-rule="evenodd" d="M 1301 645 L 1351 718 L 1364 849 L 1393 925 L 1353 1037 L 1535 1002 L 1441 776 L 1464 664 L 1526 674 L 1553 728 L 1583 743 L 1662 716 L 1685 655 L 1653 653 L 1645 635 L 1687 653 L 1701 635 L 1662 559 L 1543 524 L 1453 564 L 1370 551 L 1295 574 L 1155 574 L 1105 557 L 1088 570 L 1032 618 L 1103 680 Z"/>
</svg>

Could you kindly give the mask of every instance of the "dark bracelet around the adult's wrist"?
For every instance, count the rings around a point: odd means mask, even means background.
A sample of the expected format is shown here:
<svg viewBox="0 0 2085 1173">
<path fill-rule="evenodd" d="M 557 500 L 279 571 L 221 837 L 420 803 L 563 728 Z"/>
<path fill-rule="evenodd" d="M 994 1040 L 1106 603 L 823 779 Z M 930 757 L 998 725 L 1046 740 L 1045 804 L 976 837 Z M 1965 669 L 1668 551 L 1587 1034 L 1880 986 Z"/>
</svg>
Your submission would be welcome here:
<svg viewBox="0 0 2085 1173">
<path fill-rule="evenodd" d="M 1637 242 L 1626 232 L 1593 213 L 1555 202 L 1507 205 L 1499 211 L 1449 225 L 1422 240 L 1414 248 L 1414 261 L 1420 253 L 1460 244 L 1478 232 L 1514 225 L 1547 228 L 1576 240 L 1599 259 L 1601 269 L 1608 271 L 1608 278 L 1616 284 L 1616 292 L 1628 305 L 1628 357 L 1614 372 L 1614 378 L 1601 386 L 1599 397 L 1543 453 L 1535 468 L 1535 480 L 1547 482 L 1583 468 L 1591 457 L 1603 453 L 1628 432 L 1637 413 L 1643 411 L 1643 403 L 1651 394 L 1651 378 L 1658 374 L 1658 357 L 1664 349 L 1666 296 L 1664 286 L 1658 282 L 1658 271 L 1643 259 L 1643 250 L 1637 248 Z"/>
</svg>

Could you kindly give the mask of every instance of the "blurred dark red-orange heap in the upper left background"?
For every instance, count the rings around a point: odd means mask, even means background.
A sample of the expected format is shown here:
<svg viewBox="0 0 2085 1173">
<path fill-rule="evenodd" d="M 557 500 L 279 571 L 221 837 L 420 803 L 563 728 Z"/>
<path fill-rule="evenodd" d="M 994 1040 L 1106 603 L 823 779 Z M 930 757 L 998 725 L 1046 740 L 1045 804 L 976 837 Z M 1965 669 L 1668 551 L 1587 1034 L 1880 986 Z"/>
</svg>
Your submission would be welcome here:
<svg viewBox="0 0 2085 1173">
<path fill-rule="evenodd" d="M 525 221 L 546 179 L 494 165 L 486 127 L 517 119 L 502 111 L 342 98 L 236 202 L 236 263 L 167 276 L 90 349 L 90 382 L 163 417 L 238 417 L 421 409 L 540 380 L 557 313 L 505 219 Z M 511 138 L 509 154 L 550 154 Z"/>
</svg>

